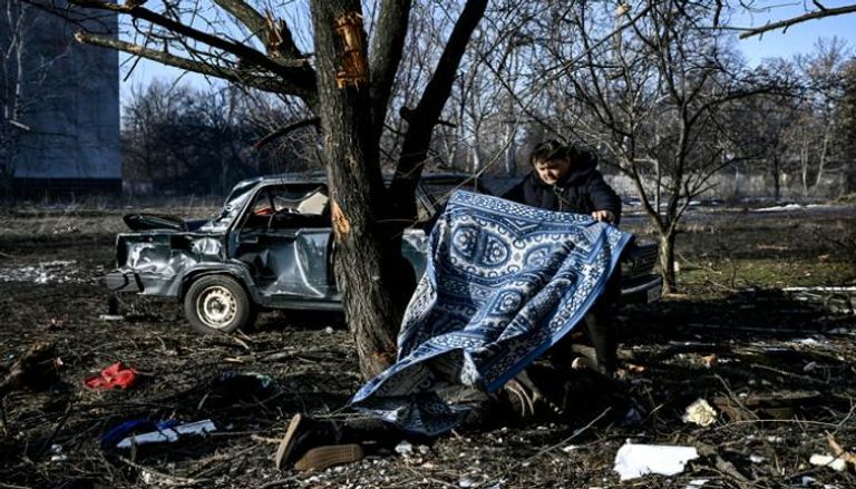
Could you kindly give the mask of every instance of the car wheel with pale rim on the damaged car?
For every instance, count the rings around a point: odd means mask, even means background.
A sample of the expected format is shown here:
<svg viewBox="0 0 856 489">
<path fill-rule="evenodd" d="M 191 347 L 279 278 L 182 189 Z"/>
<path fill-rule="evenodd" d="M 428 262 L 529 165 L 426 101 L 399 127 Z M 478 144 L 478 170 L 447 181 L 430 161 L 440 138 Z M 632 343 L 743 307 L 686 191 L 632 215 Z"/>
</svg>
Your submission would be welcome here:
<svg viewBox="0 0 856 489">
<path fill-rule="evenodd" d="M 205 275 L 187 290 L 184 315 L 202 333 L 228 334 L 252 326 L 256 311 L 246 290 L 236 280 Z"/>
</svg>

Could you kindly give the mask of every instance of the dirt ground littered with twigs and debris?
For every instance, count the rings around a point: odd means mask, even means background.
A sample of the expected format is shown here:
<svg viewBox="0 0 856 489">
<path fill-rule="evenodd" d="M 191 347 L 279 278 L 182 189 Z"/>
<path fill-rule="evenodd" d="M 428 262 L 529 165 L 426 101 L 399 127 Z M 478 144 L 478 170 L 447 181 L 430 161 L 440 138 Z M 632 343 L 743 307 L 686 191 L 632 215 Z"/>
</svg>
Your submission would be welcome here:
<svg viewBox="0 0 856 489">
<path fill-rule="evenodd" d="M 782 292 L 856 285 L 856 207 L 693 213 L 679 237 L 681 294 L 620 317 L 632 409 L 574 398 L 571 419 L 454 432 L 319 473 L 279 471 L 273 456 L 294 413 L 347 415 L 361 379 L 342 317 L 268 314 L 257 331 L 201 336 L 177 304 L 127 297 L 124 320 L 101 320 L 121 213 L 0 212 L 0 379 L 31 345 L 52 345 L 45 373 L 2 401 L 0 488 L 856 487 L 854 464 L 809 462 L 833 454 L 830 439 L 856 453 L 853 304 Z M 628 226 L 645 234 L 642 219 Z M 119 361 L 139 371 L 136 385 L 82 385 Z M 249 373 L 262 376 L 226 381 Z M 717 412 L 710 426 L 682 420 L 699 399 Z M 217 431 L 101 446 L 136 419 L 210 419 Z M 700 457 L 679 475 L 620 481 L 629 440 Z"/>
</svg>

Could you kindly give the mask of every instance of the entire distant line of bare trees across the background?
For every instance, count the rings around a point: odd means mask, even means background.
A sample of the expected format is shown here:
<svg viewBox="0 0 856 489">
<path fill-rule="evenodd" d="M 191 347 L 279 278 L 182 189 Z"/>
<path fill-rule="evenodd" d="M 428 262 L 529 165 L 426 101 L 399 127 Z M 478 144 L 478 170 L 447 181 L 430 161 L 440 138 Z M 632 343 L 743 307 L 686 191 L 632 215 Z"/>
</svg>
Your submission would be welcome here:
<svg viewBox="0 0 856 489">
<path fill-rule="evenodd" d="M 678 51 L 685 53 L 700 49 L 692 47 L 696 42 L 709 45 L 709 50 L 685 59 L 687 74 L 681 74 L 674 69 L 677 58 L 671 66 L 662 66 L 655 62 L 651 45 L 649 52 L 641 49 L 645 46 L 641 39 L 644 19 L 635 20 L 634 36 L 613 35 L 601 48 L 587 49 L 586 42 L 607 36 L 620 19 L 574 10 L 573 4 L 552 9 L 533 12 L 536 19 L 518 26 L 514 22 L 519 17 L 497 19 L 513 35 L 477 31 L 471 55 L 432 135 L 427 168 L 519 176 L 527 170 L 534 145 L 560 138 L 592 146 L 612 164 L 604 168 L 606 173 L 622 173 L 624 158 L 623 173 L 638 178 L 643 192 L 654 189 L 658 179 L 662 187 L 663 178 L 669 177 L 662 156 L 670 151 L 670 138 L 681 137 L 670 117 L 685 102 L 684 110 L 697 104 L 704 113 L 698 114 L 700 125 L 692 128 L 694 133 L 683 136 L 692 139 L 688 155 L 701 158 L 707 151 L 704 157 L 716 163 L 694 164 L 689 173 L 700 170 L 704 178 L 692 177 L 691 186 L 697 188 L 684 197 L 763 193 L 779 199 L 834 197 L 856 190 L 856 61 L 842 39 L 820 39 L 811 52 L 766 59 L 750 68 L 732 36 L 685 28 L 673 32 L 671 45 L 662 47 L 682 46 Z M 539 23 L 538 16 L 552 18 L 554 25 L 544 19 Z M 563 21 L 555 23 L 556 19 Z M 448 28 L 437 20 L 411 31 L 410 42 L 417 49 L 402 60 L 406 69 L 399 74 L 393 94 L 393 104 L 405 118 L 422 88 L 419 72 L 436 53 L 431 42 L 438 42 Z M 563 39 L 563 28 L 583 32 L 577 36 L 580 46 Z M 552 38 L 544 38 L 543 32 L 552 32 Z M 685 38 L 680 45 L 679 33 Z M 534 42 L 536 37 L 538 42 Z M 707 75 L 697 78 L 704 67 Z M 680 94 L 672 94 L 669 100 L 667 78 L 682 75 L 688 76 L 681 82 L 697 84 L 698 100 L 675 99 Z M 717 97 L 722 97 L 721 102 Z M 312 125 L 256 147 L 271 131 L 307 117 L 305 110 L 286 99 L 253 89 L 164 81 L 136 87 L 123 117 L 126 189 L 223 194 L 249 176 L 322 169 Z M 645 117 L 656 124 L 646 125 Z M 402 133 L 388 128 L 382 145 L 388 149 L 381 158 L 391 168 Z M 662 208 L 667 194 L 681 193 L 667 188 L 652 197 L 652 204 Z M 659 204 L 653 202 L 658 199 Z"/>
</svg>

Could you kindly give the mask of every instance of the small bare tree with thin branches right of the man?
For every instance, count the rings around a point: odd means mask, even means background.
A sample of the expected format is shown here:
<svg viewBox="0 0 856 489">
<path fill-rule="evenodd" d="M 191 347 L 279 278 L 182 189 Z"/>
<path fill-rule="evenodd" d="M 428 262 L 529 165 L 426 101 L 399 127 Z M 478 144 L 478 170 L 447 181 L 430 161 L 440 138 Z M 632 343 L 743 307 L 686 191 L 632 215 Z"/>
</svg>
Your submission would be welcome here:
<svg viewBox="0 0 856 489">
<path fill-rule="evenodd" d="M 662 1 L 616 11 L 574 2 L 548 12 L 543 57 L 562 67 L 554 90 L 564 102 L 546 116 L 556 133 L 595 146 L 633 182 L 660 237 L 667 291 L 677 286 L 674 244 L 690 202 L 743 158 L 726 130 L 727 107 L 769 89 L 717 36 L 718 8 Z"/>
</svg>

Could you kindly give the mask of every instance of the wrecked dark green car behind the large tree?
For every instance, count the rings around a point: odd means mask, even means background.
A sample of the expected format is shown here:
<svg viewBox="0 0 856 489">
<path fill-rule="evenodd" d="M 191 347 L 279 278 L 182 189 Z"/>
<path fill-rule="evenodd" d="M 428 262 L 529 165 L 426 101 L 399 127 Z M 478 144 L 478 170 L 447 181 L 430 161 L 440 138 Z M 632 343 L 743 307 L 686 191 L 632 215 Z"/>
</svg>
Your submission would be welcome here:
<svg viewBox="0 0 856 489">
<path fill-rule="evenodd" d="M 449 187 L 486 192 L 460 175 L 426 175 L 417 187 L 419 222 L 405 231 L 402 255 L 414 276 L 425 270 L 426 228 Z M 437 189 L 444 189 L 438 192 Z M 239 183 L 208 219 L 129 214 L 116 239 L 118 268 L 106 276 L 114 294 L 181 301 L 203 333 L 231 333 L 270 310 L 341 311 L 333 273 L 330 198 L 323 174 L 265 176 Z M 622 300 L 660 296 L 655 245 L 622 258 Z"/>
</svg>

